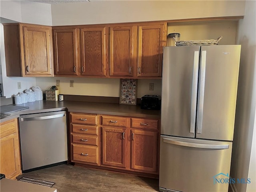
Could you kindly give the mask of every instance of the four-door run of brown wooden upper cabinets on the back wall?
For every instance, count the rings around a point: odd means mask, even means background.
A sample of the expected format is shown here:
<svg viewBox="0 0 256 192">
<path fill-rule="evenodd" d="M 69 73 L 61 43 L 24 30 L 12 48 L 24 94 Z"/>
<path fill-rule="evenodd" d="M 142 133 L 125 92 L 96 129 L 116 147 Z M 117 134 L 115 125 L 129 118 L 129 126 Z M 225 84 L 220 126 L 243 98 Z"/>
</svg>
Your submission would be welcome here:
<svg viewBox="0 0 256 192">
<path fill-rule="evenodd" d="M 162 76 L 166 22 L 52 28 L 56 76 Z"/>
</svg>

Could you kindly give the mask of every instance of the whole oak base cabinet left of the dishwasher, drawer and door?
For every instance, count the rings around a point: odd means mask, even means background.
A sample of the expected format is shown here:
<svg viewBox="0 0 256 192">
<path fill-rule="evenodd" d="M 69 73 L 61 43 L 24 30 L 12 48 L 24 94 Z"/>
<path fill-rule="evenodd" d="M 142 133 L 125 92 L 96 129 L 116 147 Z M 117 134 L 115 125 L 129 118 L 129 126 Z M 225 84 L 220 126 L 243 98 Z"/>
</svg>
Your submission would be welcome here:
<svg viewBox="0 0 256 192">
<path fill-rule="evenodd" d="M 0 127 L 0 170 L 8 179 L 22 174 L 17 119 L 1 123 Z"/>
</svg>

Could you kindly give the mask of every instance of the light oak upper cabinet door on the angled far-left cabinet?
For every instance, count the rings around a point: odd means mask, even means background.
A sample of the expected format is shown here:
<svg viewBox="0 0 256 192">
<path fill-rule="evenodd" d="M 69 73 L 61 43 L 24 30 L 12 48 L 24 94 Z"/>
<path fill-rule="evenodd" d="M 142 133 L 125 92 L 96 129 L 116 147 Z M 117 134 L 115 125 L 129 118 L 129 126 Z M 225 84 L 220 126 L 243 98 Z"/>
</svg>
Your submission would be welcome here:
<svg viewBox="0 0 256 192">
<path fill-rule="evenodd" d="M 24 76 L 53 76 L 51 27 L 23 26 Z"/>
</svg>

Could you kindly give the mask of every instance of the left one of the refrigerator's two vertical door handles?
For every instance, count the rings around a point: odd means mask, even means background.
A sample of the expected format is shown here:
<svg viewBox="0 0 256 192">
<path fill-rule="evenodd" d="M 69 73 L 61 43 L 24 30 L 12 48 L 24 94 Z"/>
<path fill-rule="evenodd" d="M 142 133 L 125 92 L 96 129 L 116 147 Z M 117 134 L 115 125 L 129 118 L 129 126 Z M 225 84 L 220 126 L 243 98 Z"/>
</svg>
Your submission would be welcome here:
<svg viewBox="0 0 256 192">
<path fill-rule="evenodd" d="M 198 80 L 198 62 L 199 51 L 194 52 L 193 64 L 193 80 L 192 80 L 192 94 L 191 94 L 191 110 L 190 110 L 190 133 L 195 132 L 196 126 L 196 94 L 197 94 L 197 80 Z"/>
</svg>

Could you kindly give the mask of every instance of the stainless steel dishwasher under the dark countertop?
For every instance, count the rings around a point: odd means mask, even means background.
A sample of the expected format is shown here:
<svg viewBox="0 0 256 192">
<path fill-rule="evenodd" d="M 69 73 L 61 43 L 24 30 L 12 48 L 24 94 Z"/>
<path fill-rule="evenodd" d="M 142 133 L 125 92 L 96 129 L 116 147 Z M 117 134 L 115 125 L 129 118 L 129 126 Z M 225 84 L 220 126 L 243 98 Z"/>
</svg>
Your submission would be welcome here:
<svg viewBox="0 0 256 192">
<path fill-rule="evenodd" d="M 22 172 L 68 160 L 66 111 L 20 115 Z"/>
</svg>

